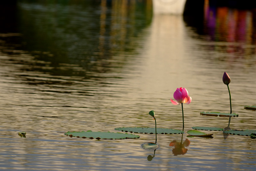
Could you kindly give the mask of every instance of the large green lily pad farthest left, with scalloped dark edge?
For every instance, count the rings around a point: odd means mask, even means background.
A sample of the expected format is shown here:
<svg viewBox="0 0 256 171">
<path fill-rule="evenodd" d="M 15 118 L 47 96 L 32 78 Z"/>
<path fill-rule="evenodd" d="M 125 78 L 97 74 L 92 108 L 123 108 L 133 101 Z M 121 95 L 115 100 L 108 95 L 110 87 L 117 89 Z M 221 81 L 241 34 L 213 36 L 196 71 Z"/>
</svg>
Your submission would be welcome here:
<svg viewBox="0 0 256 171">
<path fill-rule="evenodd" d="M 67 132 L 65 133 L 66 136 L 76 136 L 82 138 L 90 138 L 90 139 L 127 139 L 127 138 L 140 138 L 140 136 L 127 134 L 127 133 L 120 133 L 120 132 L 93 132 L 89 131 L 81 131 L 81 132 Z"/>
</svg>

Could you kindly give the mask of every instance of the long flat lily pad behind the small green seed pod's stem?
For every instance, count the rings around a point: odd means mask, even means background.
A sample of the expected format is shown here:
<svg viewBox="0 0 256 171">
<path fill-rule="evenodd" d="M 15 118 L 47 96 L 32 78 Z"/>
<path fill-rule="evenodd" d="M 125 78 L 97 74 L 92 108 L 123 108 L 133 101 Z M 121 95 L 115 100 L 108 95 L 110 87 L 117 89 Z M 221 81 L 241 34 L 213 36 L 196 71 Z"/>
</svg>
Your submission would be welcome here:
<svg viewBox="0 0 256 171">
<path fill-rule="evenodd" d="M 134 133 L 145 133 L 145 134 L 182 134 L 184 131 L 178 129 L 169 129 L 169 128 L 148 128 L 148 127 L 123 127 L 123 128 L 115 128 L 118 131 L 124 132 L 134 132 Z"/>
</svg>

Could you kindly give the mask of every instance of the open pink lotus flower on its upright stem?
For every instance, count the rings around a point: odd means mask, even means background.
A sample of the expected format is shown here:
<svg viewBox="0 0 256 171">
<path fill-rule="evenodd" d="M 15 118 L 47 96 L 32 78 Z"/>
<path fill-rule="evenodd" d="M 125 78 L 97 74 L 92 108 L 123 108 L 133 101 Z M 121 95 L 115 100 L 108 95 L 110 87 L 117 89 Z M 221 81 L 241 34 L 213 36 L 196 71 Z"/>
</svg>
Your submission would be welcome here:
<svg viewBox="0 0 256 171">
<path fill-rule="evenodd" d="M 173 93 L 173 97 L 177 102 L 171 99 L 173 105 L 180 105 L 180 103 L 189 104 L 192 100 L 191 97 L 188 96 L 188 90 L 185 88 L 177 88 L 176 91 Z"/>
</svg>

